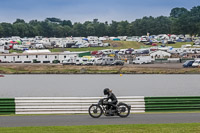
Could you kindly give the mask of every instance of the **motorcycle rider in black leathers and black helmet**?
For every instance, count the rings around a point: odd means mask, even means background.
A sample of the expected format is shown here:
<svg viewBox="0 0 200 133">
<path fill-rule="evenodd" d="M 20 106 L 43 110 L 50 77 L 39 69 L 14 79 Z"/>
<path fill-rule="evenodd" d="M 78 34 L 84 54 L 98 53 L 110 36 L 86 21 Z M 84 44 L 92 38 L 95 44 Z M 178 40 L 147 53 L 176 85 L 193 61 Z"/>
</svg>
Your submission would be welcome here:
<svg viewBox="0 0 200 133">
<path fill-rule="evenodd" d="M 107 110 L 110 109 L 115 109 L 116 105 L 117 105 L 117 98 L 115 96 L 115 94 L 112 93 L 112 90 L 110 90 L 109 88 L 105 88 L 104 89 L 104 95 L 107 95 L 107 98 L 105 98 L 107 101 L 110 99 L 111 102 L 107 103 Z M 112 108 L 111 108 L 112 107 Z"/>
</svg>

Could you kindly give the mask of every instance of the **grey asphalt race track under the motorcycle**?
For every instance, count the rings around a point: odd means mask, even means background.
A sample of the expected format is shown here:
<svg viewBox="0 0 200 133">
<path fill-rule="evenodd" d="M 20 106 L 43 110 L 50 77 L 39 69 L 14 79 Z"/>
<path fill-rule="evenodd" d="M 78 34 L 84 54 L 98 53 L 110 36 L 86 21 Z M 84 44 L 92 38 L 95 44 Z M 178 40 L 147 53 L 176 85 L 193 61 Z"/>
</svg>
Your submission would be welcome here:
<svg viewBox="0 0 200 133">
<path fill-rule="evenodd" d="M 199 123 L 200 113 L 131 114 L 127 118 L 89 115 L 0 116 L 0 127 Z"/>
</svg>

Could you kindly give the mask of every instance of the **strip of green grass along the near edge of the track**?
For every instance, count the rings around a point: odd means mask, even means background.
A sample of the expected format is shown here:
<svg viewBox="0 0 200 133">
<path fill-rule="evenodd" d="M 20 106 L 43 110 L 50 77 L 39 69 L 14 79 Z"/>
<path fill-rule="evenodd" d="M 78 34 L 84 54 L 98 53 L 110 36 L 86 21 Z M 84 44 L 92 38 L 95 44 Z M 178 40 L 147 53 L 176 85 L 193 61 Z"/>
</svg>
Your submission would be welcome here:
<svg viewBox="0 0 200 133">
<path fill-rule="evenodd" d="M 56 127 L 5 127 L 2 133 L 199 133 L 200 123 Z"/>
</svg>

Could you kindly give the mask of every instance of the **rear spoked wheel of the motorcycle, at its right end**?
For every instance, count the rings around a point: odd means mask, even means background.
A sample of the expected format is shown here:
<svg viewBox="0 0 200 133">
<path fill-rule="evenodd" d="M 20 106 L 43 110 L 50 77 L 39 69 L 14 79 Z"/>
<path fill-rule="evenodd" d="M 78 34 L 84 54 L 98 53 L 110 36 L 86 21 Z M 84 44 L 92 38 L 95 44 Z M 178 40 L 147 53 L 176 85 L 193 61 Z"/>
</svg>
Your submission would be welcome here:
<svg viewBox="0 0 200 133">
<path fill-rule="evenodd" d="M 130 109 L 126 104 L 120 104 L 118 106 L 118 115 L 120 117 L 127 117 L 130 114 Z"/>
</svg>

